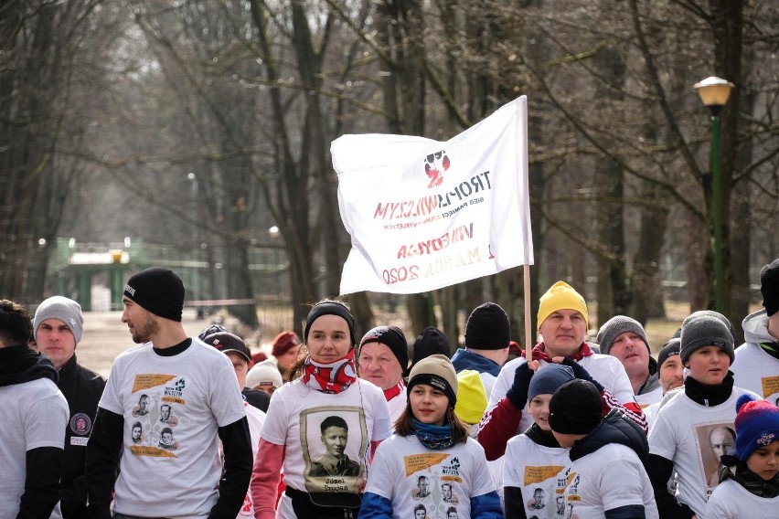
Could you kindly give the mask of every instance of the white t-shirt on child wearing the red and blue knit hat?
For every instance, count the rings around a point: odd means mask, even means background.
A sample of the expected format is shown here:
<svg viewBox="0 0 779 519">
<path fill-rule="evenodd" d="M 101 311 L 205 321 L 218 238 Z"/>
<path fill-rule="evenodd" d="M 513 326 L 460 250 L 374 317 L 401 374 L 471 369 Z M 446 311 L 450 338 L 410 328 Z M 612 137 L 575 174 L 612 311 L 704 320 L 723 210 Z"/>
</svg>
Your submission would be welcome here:
<svg viewBox="0 0 779 519">
<path fill-rule="evenodd" d="M 779 496 L 759 497 L 733 480 L 717 485 L 706 504 L 706 519 L 776 519 L 777 516 Z"/>
</svg>

